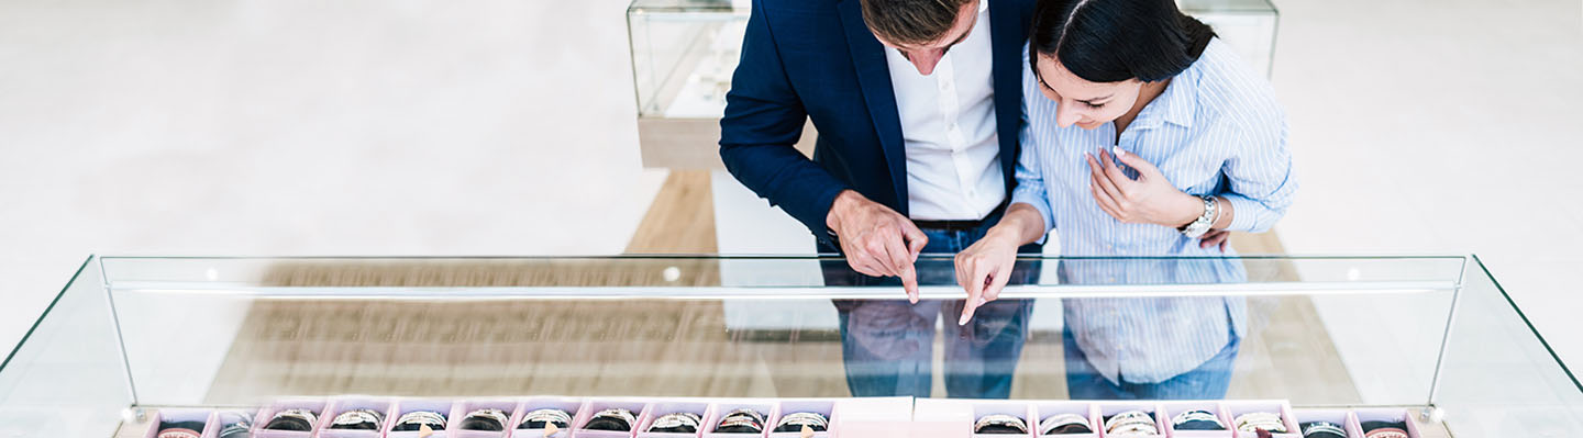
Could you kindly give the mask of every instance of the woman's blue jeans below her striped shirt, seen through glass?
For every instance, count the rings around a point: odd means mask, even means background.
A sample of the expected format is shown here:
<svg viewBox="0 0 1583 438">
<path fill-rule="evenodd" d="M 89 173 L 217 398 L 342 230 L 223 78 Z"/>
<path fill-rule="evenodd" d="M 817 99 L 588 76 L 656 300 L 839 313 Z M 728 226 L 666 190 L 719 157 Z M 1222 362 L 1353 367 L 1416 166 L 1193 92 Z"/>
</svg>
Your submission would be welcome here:
<svg viewBox="0 0 1583 438">
<path fill-rule="evenodd" d="M 1232 334 L 1232 342 L 1203 365 L 1176 375 L 1162 383 L 1111 383 L 1083 356 L 1072 330 L 1062 332 L 1067 357 L 1067 392 L 1072 400 L 1220 400 L 1232 386 L 1232 370 L 1243 340 Z"/>
</svg>

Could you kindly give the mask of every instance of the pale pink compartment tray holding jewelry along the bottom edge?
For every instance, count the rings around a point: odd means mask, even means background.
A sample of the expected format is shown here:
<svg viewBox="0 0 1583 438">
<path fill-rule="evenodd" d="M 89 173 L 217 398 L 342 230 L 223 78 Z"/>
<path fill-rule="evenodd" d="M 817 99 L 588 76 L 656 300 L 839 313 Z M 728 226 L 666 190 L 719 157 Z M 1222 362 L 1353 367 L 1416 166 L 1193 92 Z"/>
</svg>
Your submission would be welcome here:
<svg viewBox="0 0 1583 438">
<path fill-rule="evenodd" d="M 570 430 L 510 429 L 505 432 L 459 430 L 461 419 L 481 408 L 495 408 L 511 413 L 510 424 L 521 424 L 522 416 L 543 408 L 567 411 L 573 416 Z M 636 414 L 638 427 L 632 432 L 587 430 L 584 425 L 592 413 L 606 408 L 624 408 Z M 763 433 L 717 433 L 720 414 L 735 408 L 765 410 L 766 427 Z M 280 410 L 307 410 L 318 416 L 313 432 L 261 430 Z M 367 430 L 329 430 L 331 419 L 347 410 L 375 410 L 385 414 L 380 432 Z M 1347 430 L 1347 438 L 1363 438 L 1361 422 L 1390 421 L 1404 422 L 1410 438 L 1426 438 L 1420 425 L 1406 408 L 1355 408 L 1355 410 L 1293 410 L 1285 400 L 970 400 L 970 398 L 912 398 L 912 397 L 871 397 L 871 398 L 655 398 L 655 397 L 526 397 L 526 398 L 404 398 L 404 397 L 293 397 L 277 400 L 253 416 L 253 436 L 258 438 L 407 438 L 418 436 L 418 432 L 393 432 L 396 419 L 415 410 L 446 413 L 446 427 L 434 430 L 434 438 L 803 438 L 798 432 L 771 432 L 773 425 L 788 413 L 818 413 L 829 419 L 828 432 L 815 432 L 809 438 L 858 438 L 885 436 L 904 432 L 905 436 L 917 438 L 997 438 L 997 436 L 1061 436 L 1061 438 L 1103 438 L 1107 436 L 1103 419 L 1124 411 L 1145 411 L 1154 416 L 1159 435 L 1129 435 L 1138 438 L 1255 438 L 1251 432 L 1232 430 L 1175 430 L 1171 417 L 1181 411 L 1211 411 L 1220 424 L 1232 425 L 1233 419 L 1246 413 L 1279 413 L 1289 433 L 1273 433 L 1276 438 L 1300 438 L 1298 425 L 1308 421 L 1327 421 L 1341 424 Z M 161 419 L 207 419 L 203 438 L 214 438 L 222 411 L 215 410 L 163 410 L 155 413 L 144 438 L 155 438 Z M 704 419 L 704 429 L 698 433 L 652 433 L 647 430 L 657 416 L 670 413 L 693 413 Z M 977 419 L 989 414 L 1015 416 L 1027 425 L 1037 425 L 1042 419 L 1054 414 L 1080 414 L 1089 419 L 1094 433 L 1043 435 L 1037 427 L 1026 435 L 1007 433 L 972 433 Z M 879 433 L 879 435 L 871 435 Z"/>
</svg>

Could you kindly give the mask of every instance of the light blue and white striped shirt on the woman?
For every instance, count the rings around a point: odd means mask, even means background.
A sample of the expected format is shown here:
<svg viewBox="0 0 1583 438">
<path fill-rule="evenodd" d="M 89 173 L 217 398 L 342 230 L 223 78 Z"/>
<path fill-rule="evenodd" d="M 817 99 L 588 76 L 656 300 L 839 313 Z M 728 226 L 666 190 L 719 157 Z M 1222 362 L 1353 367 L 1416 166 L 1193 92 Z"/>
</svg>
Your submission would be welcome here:
<svg viewBox="0 0 1583 438">
<path fill-rule="evenodd" d="M 1026 123 L 1012 202 L 1035 207 L 1065 256 L 1222 256 L 1173 228 L 1121 223 L 1100 210 L 1083 153 L 1097 158 L 1111 145 L 1152 163 L 1178 190 L 1222 196 L 1235 212 L 1232 231 L 1266 231 L 1292 204 L 1296 179 L 1285 112 L 1268 81 L 1219 40 L 1209 41 L 1119 139 L 1113 123 L 1057 126 L 1057 104 L 1038 87 L 1034 73 L 1024 71 Z M 1232 259 L 1064 262 L 1061 280 L 1232 283 L 1246 281 L 1246 272 Z M 1072 299 L 1064 307 L 1078 346 L 1111 381 L 1170 379 L 1214 357 L 1232 335 L 1246 334 L 1246 302 L 1239 297 Z"/>
</svg>

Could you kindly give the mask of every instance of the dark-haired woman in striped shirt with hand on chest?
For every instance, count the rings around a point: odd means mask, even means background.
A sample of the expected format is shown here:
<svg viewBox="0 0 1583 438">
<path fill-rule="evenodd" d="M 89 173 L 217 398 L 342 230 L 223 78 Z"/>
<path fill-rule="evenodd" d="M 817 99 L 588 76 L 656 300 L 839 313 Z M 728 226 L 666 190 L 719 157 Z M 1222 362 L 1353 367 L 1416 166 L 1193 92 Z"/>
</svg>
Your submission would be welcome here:
<svg viewBox="0 0 1583 438">
<path fill-rule="evenodd" d="M 1285 115 L 1268 82 L 1175 2 L 1042 0 L 1029 40 L 1018 187 L 1005 218 L 956 256 L 961 321 L 999 296 L 1016 248 L 1051 229 L 1067 256 L 1222 256 L 1228 231 L 1266 231 L 1292 204 Z M 1246 277 L 1227 259 L 1062 262 L 1059 274 Z M 1246 330 L 1235 297 L 1065 300 L 1065 316 L 1069 357 L 1086 359 L 1069 372 L 1102 376 L 1069 373 L 1081 398 L 1219 398 Z"/>
</svg>

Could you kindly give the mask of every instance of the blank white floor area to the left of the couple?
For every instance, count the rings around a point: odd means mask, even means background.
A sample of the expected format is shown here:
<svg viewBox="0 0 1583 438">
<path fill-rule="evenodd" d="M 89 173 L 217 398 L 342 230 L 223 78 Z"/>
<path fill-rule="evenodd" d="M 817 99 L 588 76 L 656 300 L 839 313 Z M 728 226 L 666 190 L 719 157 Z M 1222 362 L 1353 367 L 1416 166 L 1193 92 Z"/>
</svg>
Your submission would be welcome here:
<svg viewBox="0 0 1583 438">
<path fill-rule="evenodd" d="M 621 251 L 625 5 L 0 2 L 0 345 L 90 253 Z"/>
</svg>

